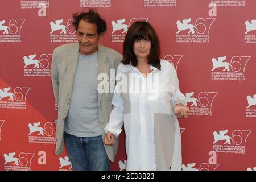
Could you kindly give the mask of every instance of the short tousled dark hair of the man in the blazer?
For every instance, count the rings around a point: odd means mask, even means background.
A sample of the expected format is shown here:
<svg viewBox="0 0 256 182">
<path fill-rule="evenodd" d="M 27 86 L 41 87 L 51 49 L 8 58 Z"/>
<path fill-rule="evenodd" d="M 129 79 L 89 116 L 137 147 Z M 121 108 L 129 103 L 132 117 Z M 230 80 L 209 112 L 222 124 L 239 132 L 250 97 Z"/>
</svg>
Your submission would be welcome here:
<svg viewBox="0 0 256 182">
<path fill-rule="evenodd" d="M 94 9 L 89 9 L 89 11 L 83 11 L 82 13 L 73 14 L 73 26 L 77 31 L 80 20 L 84 20 L 88 23 L 96 24 L 98 35 L 104 34 L 106 32 L 106 22 Z"/>
</svg>

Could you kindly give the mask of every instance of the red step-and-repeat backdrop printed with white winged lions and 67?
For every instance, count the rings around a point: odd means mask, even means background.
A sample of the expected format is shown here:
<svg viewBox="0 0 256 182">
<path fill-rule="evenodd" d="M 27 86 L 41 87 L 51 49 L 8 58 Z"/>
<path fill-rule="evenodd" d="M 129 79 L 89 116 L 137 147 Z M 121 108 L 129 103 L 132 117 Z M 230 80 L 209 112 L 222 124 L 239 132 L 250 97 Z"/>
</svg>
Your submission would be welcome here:
<svg viewBox="0 0 256 182">
<path fill-rule="evenodd" d="M 256 170 L 254 0 L 1 0 L 0 170 L 72 170 L 66 151 L 54 155 L 51 60 L 77 42 L 72 13 L 86 7 L 108 24 L 101 43 L 120 53 L 133 22 L 155 27 L 191 110 L 179 119 L 183 170 Z M 126 169 L 124 139 L 112 170 Z"/>
</svg>

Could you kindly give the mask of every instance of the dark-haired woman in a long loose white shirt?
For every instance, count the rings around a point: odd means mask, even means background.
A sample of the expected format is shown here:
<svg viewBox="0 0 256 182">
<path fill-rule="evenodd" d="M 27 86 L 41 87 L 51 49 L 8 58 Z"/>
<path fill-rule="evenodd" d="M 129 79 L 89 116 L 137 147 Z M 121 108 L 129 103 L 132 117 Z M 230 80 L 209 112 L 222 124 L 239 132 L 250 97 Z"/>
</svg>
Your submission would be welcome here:
<svg viewBox="0 0 256 182">
<path fill-rule="evenodd" d="M 178 118 L 187 118 L 184 95 L 171 63 L 160 60 L 159 39 L 147 22 L 127 32 L 117 69 L 106 145 L 113 145 L 124 123 L 127 170 L 180 170 Z"/>
</svg>

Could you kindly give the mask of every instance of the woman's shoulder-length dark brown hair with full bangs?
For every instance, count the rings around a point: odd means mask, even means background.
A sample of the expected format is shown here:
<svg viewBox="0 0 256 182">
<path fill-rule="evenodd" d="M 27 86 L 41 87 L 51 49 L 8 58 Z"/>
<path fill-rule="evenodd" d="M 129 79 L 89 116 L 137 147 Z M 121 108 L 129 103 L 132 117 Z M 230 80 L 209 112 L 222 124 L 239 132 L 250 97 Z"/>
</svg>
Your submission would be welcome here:
<svg viewBox="0 0 256 182">
<path fill-rule="evenodd" d="M 150 55 L 148 56 L 148 64 L 160 63 L 160 44 L 159 38 L 154 28 L 148 22 L 135 22 L 133 23 L 125 37 L 123 43 L 123 64 L 130 64 L 134 67 L 137 66 L 138 60 L 133 50 L 135 40 L 149 39 L 151 42 Z"/>
</svg>

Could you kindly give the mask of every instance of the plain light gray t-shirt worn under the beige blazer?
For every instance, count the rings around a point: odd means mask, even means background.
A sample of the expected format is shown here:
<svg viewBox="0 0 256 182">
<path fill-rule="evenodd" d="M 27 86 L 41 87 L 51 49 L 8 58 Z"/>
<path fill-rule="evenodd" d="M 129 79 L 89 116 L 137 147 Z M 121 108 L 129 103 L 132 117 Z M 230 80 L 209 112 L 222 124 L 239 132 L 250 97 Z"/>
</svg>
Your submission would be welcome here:
<svg viewBox="0 0 256 182">
<path fill-rule="evenodd" d="M 98 118 L 98 52 L 81 55 L 77 61 L 72 99 L 64 131 L 77 137 L 101 135 Z"/>
</svg>

